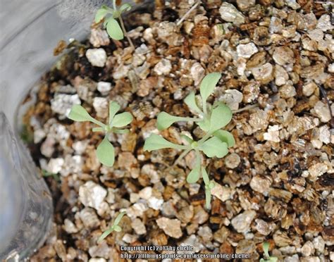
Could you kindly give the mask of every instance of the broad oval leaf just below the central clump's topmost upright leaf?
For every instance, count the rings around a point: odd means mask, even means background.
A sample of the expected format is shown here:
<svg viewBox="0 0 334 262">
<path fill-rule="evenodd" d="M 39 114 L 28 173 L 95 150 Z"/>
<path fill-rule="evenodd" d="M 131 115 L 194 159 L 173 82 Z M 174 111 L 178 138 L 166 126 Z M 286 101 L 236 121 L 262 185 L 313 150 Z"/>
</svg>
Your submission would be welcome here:
<svg viewBox="0 0 334 262">
<path fill-rule="evenodd" d="M 215 132 L 216 130 L 225 127 L 232 119 L 232 111 L 225 104 L 218 104 L 216 108 L 212 110 L 210 118 L 209 132 Z"/>
</svg>

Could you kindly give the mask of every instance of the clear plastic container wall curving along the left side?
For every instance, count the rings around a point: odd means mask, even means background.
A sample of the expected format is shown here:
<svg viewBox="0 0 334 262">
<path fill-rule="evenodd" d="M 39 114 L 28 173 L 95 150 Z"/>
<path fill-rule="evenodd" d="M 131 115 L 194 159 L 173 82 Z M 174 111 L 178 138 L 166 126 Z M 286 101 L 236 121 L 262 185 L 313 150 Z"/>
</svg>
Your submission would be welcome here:
<svg viewBox="0 0 334 262">
<path fill-rule="evenodd" d="M 123 0 L 123 3 L 126 2 L 133 4 L 132 1 Z M 1 210 L 1 216 L 4 220 L 0 220 L 0 260 L 6 258 L 3 257 L 3 254 L 8 255 L 8 252 L 1 252 L 6 245 L 8 246 L 8 243 L 11 242 L 13 244 L 11 237 L 17 233 L 17 228 L 20 227 L 20 223 L 25 218 L 24 208 L 21 208 L 22 212 L 20 215 L 17 214 L 20 206 L 27 206 L 27 209 L 29 209 L 36 204 L 34 201 L 32 201 L 32 204 L 22 204 L 25 201 L 23 198 L 26 197 L 25 194 L 27 192 L 19 185 L 27 185 L 27 188 L 31 191 L 28 190 L 31 199 L 41 194 L 39 190 L 34 189 L 35 183 L 39 183 L 39 187 L 44 187 L 45 192 L 49 192 L 44 180 L 40 180 L 40 177 L 37 177 L 37 169 L 31 158 L 27 156 L 27 150 L 24 146 L 20 146 L 20 141 L 17 139 L 20 127 L 18 105 L 23 101 L 30 88 L 37 84 L 43 73 L 51 68 L 52 64 L 59 58 L 53 56 L 53 50 L 57 43 L 61 39 L 68 42 L 69 39 L 82 40 L 87 37 L 90 25 L 94 19 L 94 13 L 102 4 L 110 6 L 111 1 L 1 1 L 0 126 L 4 127 L 3 130 L 7 130 L 6 137 L 2 137 L 2 139 L 6 139 L 7 147 L 4 150 L 4 144 L 2 144 L 3 150 L 0 152 L 0 182 L 1 187 L 6 188 L 1 194 L 0 206 L 7 209 L 7 211 Z M 1 114 L 1 112 L 4 112 L 4 114 Z M 4 120 L 4 116 L 8 118 L 8 121 Z M 6 125 L 4 124 L 5 122 Z M 10 126 L 13 128 L 11 129 Z M 8 135 L 9 133 L 11 135 Z M 4 134 L 1 133 L 1 135 Z M 16 144 L 13 142 L 18 142 L 19 146 L 13 146 L 13 144 Z M 14 155 L 20 156 L 20 164 L 18 166 L 14 163 L 13 158 L 5 157 L 8 156 L 8 151 L 13 151 Z M 18 190 L 22 190 L 22 196 L 17 194 L 18 199 L 16 199 L 11 194 L 13 192 L 15 194 Z M 45 202 L 44 208 L 49 208 L 48 216 L 51 218 L 51 198 Z M 13 206 L 14 209 L 11 209 Z M 39 210 L 38 208 L 41 207 L 43 207 L 43 203 L 34 208 Z M 3 214 L 6 216 L 3 216 Z M 44 242 L 49 220 L 44 222 L 40 228 L 42 232 L 33 233 L 37 234 L 35 238 L 39 237 L 40 239 L 37 239 L 38 241 L 36 240 L 34 243 L 23 243 L 23 246 L 27 247 L 12 250 L 13 257 L 18 256 L 18 259 L 21 260 Z M 6 230 L 4 230 L 4 227 L 6 227 Z M 25 234 L 30 234 L 30 231 L 30 228 L 27 228 Z M 41 237 L 41 234 L 44 237 Z"/>
</svg>

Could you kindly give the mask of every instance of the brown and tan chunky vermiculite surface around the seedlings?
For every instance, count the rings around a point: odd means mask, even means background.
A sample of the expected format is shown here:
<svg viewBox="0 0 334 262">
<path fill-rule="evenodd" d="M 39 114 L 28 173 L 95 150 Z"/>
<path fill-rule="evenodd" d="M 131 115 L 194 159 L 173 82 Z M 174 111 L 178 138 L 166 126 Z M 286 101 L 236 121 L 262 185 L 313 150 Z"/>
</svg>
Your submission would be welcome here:
<svg viewBox="0 0 334 262">
<path fill-rule="evenodd" d="M 259 261 L 264 242 L 278 261 L 334 260 L 332 5 L 207 0 L 180 20 L 193 4 L 156 0 L 130 13 L 135 50 L 96 24 L 82 43 L 59 42 L 60 60 L 26 99 L 35 102 L 23 138 L 54 197 L 51 234 L 31 261 L 126 261 L 125 246 L 167 246 L 130 254 L 170 254 L 180 245 Z M 152 132 L 178 144 L 181 132 L 202 137 L 185 122 L 159 132 L 156 116 L 196 116 L 183 99 L 212 72 L 223 76 L 209 100 L 235 112 L 225 129 L 236 144 L 204 161 L 216 182 L 208 210 L 202 179 L 185 181 L 194 155 L 173 166 L 179 151 L 142 146 Z M 130 133 L 109 137 L 112 168 L 97 161 L 103 134 L 66 117 L 81 104 L 105 122 L 109 101 L 134 117 Z M 120 211 L 122 232 L 97 244 Z M 241 258 L 210 259 L 231 260 Z"/>
</svg>

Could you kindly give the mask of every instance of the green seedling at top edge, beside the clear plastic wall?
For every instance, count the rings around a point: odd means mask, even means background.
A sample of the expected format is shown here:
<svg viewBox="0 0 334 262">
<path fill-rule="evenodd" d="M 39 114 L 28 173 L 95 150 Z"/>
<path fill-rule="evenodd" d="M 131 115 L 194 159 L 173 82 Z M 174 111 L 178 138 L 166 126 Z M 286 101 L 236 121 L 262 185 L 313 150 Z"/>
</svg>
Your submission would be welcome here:
<svg viewBox="0 0 334 262">
<path fill-rule="evenodd" d="M 95 15 L 95 23 L 99 23 L 102 19 L 104 19 L 104 27 L 106 28 L 106 32 L 108 32 L 109 37 L 112 39 L 121 40 L 125 35 L 128 38 L 130 46 L 134 48 L 135 46 L 132 44 L 130 37 L 128 37 L 128 32 L 125 30 L 122 19 L 122 13 L 129 11 L 130 9 L 130 4 L 123 4 L 120 6 L 120 8 L 117 8 L 116 0 L 113 0 L 113 8 L 103 5 L 101 8 L 99 8 L 99 10 L 97 10 L 97 14 Z M 120 24 L 118 24 L 116 19 L 120 21 Z"/>
</svg>

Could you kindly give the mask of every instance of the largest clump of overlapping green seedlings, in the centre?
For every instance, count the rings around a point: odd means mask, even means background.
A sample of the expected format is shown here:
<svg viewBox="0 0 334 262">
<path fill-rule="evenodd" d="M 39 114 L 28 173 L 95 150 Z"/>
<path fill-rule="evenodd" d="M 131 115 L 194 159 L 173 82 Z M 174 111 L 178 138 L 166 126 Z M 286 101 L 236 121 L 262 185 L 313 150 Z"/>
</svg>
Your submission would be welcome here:
<svg viewBox="0 0 334 262">
<path fill-rule="evenodd" d="M 144 144 L 145 151 L 166 148 L 183 150 L 183 153 L 180 154 L 175 163 L 180 161 L 180 159 L 186 156 L 190 151 L 193 150 L 195 152 L 196 162 L 194 168 L 187 175 L 187 182 L 197 182 L 202 174 L 205 185 L 206 208 L 210 208 L 211 189 L 214 188 L 214 181 L 209 180 L 209 176 L 206 173 L 205 168 L 202 166 L 201 152 L 209 158 L 214 156 L 222 158 L 228 154 L 228 147 L 234 146 L 235 144 L 233 135 L 228 131 L 221 130 L 221 128 L 225 127 L 225 125 L 232 119 L 232 111 L 230 108 L 221 102 L 218 102 L 213 106 L 206 103 L 208 97 L 214 92 L 214 88 L 220 78 L 220 73 L 211 73 L 206 75 L 202 80 L 199 87 L 200 96 L 202 97 L 202 109 L 197 105 L 194 92 L 191 92 L 185 98 L 185 104 L 196 112 L 199 115 L 199 118 L 183 118 L 180 116 L 171 116 L 166 112 L 161 112 L 157 119 L 157 127 L 159 130 L 165 130 L 178 121 L 193 121 L 206 132 L 206 135 L 204 135 L 202 139 L 194 141 L 192 137 L 181 135 L 185 143 L 180 145 L 173 144 L 159 135 L 151 134 Z"/>
</svg>

